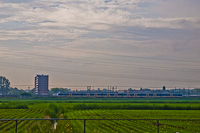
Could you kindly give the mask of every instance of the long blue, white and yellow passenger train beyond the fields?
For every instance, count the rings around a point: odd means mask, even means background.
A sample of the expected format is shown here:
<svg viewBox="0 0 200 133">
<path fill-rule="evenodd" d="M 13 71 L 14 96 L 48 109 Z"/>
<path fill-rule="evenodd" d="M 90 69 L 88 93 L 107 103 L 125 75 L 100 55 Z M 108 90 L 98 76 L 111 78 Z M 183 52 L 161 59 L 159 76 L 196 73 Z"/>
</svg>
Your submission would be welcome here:
<svg viewBox="0 0 200 133">
<path fill-rule="evenodd" d="M 183 97 L 181 93 L 59 93 L 60 97 Z"/>
</svg>

